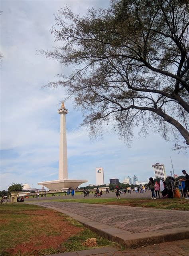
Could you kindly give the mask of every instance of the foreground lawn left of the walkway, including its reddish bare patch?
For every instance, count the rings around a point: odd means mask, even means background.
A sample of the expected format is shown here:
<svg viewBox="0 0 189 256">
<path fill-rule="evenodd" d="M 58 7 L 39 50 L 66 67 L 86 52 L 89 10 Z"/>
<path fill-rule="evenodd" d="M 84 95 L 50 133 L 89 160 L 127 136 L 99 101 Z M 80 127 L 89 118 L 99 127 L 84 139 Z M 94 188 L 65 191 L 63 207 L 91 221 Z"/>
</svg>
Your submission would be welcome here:
<svg viewBox="0 0 189 256">
<path fill-rule="evenodd" d="M 60 212 L 32 204 L 0 205 L 0 217 L 1 256 L 85 250 L 87 238 L 96 238 L 97 247 L 114 244 Z"/>
</svg>

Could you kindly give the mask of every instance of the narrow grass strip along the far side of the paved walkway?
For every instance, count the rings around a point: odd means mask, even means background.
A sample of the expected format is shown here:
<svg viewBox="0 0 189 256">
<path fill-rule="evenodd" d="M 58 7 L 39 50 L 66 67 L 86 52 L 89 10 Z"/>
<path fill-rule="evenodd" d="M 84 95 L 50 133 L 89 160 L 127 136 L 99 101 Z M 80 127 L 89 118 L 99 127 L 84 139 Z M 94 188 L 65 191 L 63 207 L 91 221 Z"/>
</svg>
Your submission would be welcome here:
<svg viewBox="0 0 189 256">
<path fill-rule="evenodd" d="M 158 208 L 158 209 L 171 209 L 171 210 L 182 210 L 189 211 L 189 200 L 185 199 L 146 199 L 146 198 L 91 198 L 91 199 L 59 199 L 52 200 L 56 202 L 78 202 L 87 204 L 111 204 L 121 206 L 134 206 L 134 207 L 145 207 L 145 208 Z"/>
</svg>

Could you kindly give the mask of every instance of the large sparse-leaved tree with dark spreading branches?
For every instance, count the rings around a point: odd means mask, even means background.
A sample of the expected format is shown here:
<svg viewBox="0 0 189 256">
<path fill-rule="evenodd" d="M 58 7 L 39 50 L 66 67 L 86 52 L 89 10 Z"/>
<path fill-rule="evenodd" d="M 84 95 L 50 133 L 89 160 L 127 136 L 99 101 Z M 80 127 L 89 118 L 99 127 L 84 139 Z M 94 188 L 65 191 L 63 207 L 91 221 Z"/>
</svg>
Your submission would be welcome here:
<svg viewBox="0 0 189 256">
<path fill-rule="evenodd" d="M 114 122 L 126 142 L 139 126 L 189 145 L 188 18 L 186 0 L 112 0 L 85 16 L 61 9 L 51 30 L 59 46 L 43 53 L 72 72 L 49 86 L 67 88 L 91 133 Z"/>
</svg>

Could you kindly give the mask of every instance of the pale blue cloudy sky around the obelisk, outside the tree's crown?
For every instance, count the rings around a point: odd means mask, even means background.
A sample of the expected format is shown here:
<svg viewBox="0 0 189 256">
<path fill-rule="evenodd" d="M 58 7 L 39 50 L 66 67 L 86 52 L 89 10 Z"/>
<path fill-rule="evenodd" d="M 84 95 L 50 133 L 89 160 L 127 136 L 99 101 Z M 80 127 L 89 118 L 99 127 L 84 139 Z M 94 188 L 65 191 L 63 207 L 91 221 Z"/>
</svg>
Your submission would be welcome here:
<svg viewBox="0 0 189 256">
<path fill-rule="evenodd" d="M 65 97 L 62 88 L 41 88 L 65 69 L 59 63 L 37 55 L 37 49 L 55 45 L 49 32 L 55 24 L 53 14 L 65 5 L 85 14 L 87 8 L 106 7 L 109 0 L 2 0 L 0 10 L 1 50 L 1 180 L 0 190 L 10 183 L 29 183 L 58 178 L 59 114 Z M 95 184 L 95 167 L 104 167 L 105 182 L 112 177 L 122 181 L 136 175 L 146 181 L 154 176 L 152 165 L 163 163 L 167 174 L 181 175 L 188 169 L 188 154 L 172 150 L 159 134 L 146 138 L 135 135 L 128 148 L 112 129 L 104 137 L 91 141 L 87 129 L 79 129 L 82 114 L 65 102 L 69 178 L 88 179 Z M 87 183 L 86 183 L 87 184 Z"/>
</svg>

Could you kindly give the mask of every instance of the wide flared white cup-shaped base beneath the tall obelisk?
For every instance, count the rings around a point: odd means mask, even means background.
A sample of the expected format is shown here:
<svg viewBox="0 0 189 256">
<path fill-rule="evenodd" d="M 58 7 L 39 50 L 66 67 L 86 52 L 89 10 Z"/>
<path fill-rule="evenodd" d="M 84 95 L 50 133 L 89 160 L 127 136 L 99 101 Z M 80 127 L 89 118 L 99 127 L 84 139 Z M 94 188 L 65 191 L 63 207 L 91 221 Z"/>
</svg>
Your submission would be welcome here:
<svg viewBox="0 0 189 256">
<path fill-rule="evenodd" d="M 82 183 L 87 182 L 86 179 L 57 179 L 51 181 L 43 181 L 38 182 L 37 185 L 42 185 L 47 187 L 51 191 L 60 191 L 60 190 L 67 190 L 67 189 L 76 189 Z"/>
</svg>

